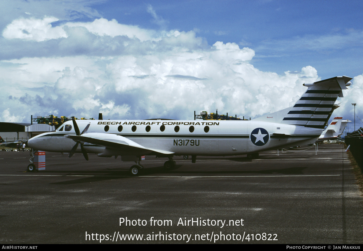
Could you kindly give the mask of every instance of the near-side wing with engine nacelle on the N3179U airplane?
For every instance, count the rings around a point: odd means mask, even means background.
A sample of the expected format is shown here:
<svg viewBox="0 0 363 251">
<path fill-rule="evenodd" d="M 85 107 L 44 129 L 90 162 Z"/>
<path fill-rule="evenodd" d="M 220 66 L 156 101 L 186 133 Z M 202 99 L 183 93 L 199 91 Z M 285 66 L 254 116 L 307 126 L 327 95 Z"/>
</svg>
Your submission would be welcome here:
<svg viewBox="0 0 363 251">
<path fill-rule="evenodd" d="M 109 133 L 83 133 L 82 135 L 65 135 L 66 138 L 73 139 L 74 141 L 81 141 L 85 143 L 91 143 L 113 150 L 121 151 L 127 155 L 127 152 L 140 152 L 140 154 L 148 154 L 156 152 L 160 154 L 174 154 L 174 152 L 143 147 L 138 143 L 116 134 Z M 121 155 L 121 154 L 120 154 Z"/>
</svg>

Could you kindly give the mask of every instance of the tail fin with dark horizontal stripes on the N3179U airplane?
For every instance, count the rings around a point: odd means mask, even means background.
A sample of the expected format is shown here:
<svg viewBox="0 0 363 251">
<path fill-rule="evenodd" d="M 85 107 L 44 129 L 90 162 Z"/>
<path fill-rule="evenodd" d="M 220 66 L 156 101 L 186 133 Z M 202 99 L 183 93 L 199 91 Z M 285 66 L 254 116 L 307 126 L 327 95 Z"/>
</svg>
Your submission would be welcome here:
<svg viewBox="0 0 363 251">
<path fill-rule="evenodd" d="M 351 79 L 341 76 L 303 84 L 308 88 L 295 105 L 254 120 L 324 129 L 337 108 L 335 101 L 343 97 L 342 90 L 352 84 Z"/>
</svg>

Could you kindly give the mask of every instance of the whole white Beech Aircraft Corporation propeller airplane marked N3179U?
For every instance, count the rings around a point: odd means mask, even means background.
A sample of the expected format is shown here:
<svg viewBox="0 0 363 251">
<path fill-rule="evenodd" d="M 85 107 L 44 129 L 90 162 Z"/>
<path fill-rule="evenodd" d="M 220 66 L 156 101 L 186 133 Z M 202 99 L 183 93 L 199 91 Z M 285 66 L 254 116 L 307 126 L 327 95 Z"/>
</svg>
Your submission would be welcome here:
<svg viewBox="0 0 363 251">
<path fill-rule="evenodd" d="M 123 161 L 135 161 L 131 175 L 142 170 L 143 155 L 168 157 L 166 169 L 176 166 L 175 155 L 191 155 L 193 163 L 197 155 L 256 158 L 261 151 L 315 143 L 351 79 L 342 76 L 304 84 L 308 89 L 294 106 L 250 121 L 73 119 L 56 131 L 29 139 L 28 146 L 69 152 L 69 157 L 82 152 L 86 160 L 87 153 L 121 156 Z"/>
</svg>

